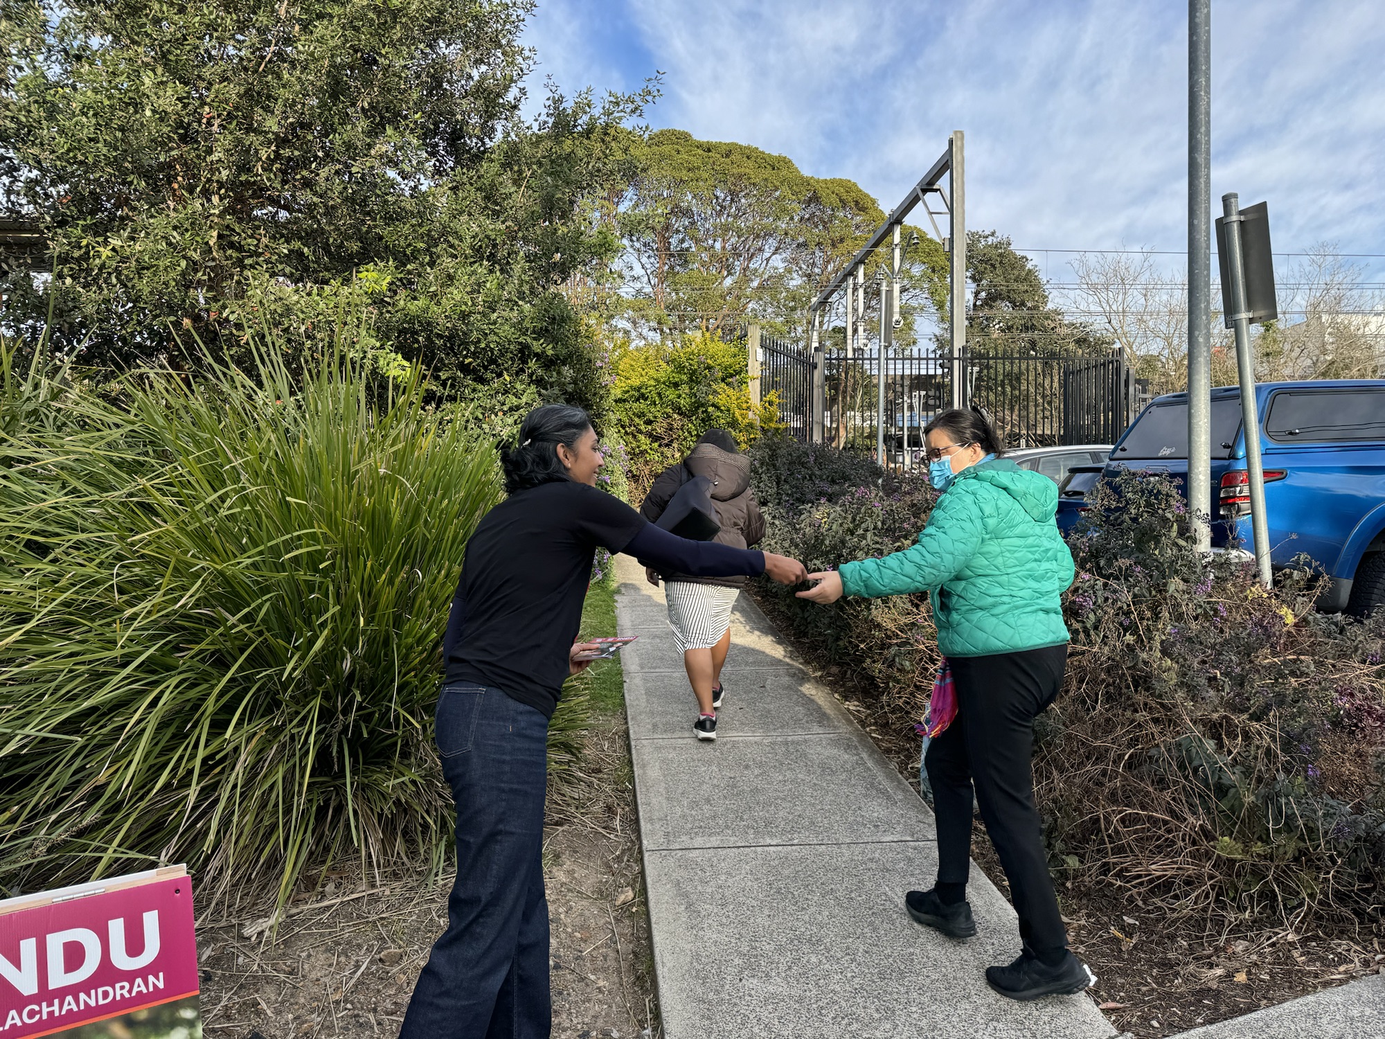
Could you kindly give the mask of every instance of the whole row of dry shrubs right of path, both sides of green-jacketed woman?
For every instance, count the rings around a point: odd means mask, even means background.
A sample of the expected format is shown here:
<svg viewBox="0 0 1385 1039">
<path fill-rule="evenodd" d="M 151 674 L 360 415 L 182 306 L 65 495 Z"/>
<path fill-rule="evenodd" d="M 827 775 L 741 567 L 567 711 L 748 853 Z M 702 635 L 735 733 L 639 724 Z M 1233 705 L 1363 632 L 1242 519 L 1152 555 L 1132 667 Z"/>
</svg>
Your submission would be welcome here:
<svg viewBox="0 0 1385 1039">
<path fill-rule="evenodd" d="M 830 447 L 755 449 L 766 546 L 809 569 L 907 547 L 933 492 Z M 1310 567 L 1266 592 L 1204 561 L 1177 486 L 1123 472 L 1069 538 L 1072 652 L 1037 725 L 1050 863 L 1144 905 L 1241 921 L 1381 923 L 1385 618 L 1313 612 Z M 877 690 L 903 730 L 938 662 L 927 597 L 776 596 L 781 616 Z"/>
</svg>

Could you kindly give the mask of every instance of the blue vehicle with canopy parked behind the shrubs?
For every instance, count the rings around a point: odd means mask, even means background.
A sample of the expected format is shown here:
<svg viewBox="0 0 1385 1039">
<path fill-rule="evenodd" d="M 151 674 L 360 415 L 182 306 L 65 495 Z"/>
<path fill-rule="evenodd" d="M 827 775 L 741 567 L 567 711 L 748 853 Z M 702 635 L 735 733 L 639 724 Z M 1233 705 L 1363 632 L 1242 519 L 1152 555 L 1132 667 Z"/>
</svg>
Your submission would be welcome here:
<svg viewBox="0 0 1385 1039">
<path fill-rule="evenodd" d="M 1385 605 L 1385 380 L 1263 382 L 1265 508 L 1271 561 L 1306 554 L 1332 579 L 1325 612 L 1366 615 Z M 1188 396 L 1150 403 L 1107 463 L 1165 471 L 1187 492 Z M 1212 391 L 1212 546 L 1245 547 L 1251 535 L 1241 391 Z"/>
</svg>

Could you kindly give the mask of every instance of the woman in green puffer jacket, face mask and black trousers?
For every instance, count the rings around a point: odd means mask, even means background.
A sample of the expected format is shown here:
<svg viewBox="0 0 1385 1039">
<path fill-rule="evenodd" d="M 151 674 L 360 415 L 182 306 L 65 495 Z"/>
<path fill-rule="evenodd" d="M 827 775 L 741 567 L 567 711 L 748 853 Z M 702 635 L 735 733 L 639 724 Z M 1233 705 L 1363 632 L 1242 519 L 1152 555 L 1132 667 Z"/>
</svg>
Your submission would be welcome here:
<svg viewBox="0 0 1385 1039">
<path fill-rule="evenodd" d="M 1080 992 L 1094 978 L 1068 950 L 1033 799 L 1033 720 L 1058 695 L 1068 659 L 1062 593 L 1072 554 L 1058 533 L 1058 488 L 1001 457 L 978 411 L 949 410 L 924 431 L 939 490 L 904 551 L 810 574 L 802 598 L 929 593 L 957 713 L 928 743 L 924 767 L 938 819 L 938 880 L 904 896 L 910 916 L 953 938 L 976 934 L 967 902 L 972 792 L 1019 914 L 1021 956 L 988 967 L 1011 999 Z M 936 689 L 936 687 L 935 687 Z M 940 697 L 938 697 L 940 700 Z M 932 719 L 935 723 L 938 718 Z"/>
</svg>

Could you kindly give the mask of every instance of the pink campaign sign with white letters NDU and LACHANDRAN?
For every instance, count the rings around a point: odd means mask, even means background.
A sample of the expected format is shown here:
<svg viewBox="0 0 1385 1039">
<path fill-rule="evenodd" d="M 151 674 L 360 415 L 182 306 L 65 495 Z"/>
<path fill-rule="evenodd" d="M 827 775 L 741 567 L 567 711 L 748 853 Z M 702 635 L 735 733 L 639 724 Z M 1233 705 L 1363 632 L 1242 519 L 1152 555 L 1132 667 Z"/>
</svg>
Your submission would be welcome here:
<svg viewBox="0 0 1385 1039">
<path fill-rule="evenodd" d="M 197 993 L 184 874 L 0 914 L 0 1039 Z"/>
</svg>

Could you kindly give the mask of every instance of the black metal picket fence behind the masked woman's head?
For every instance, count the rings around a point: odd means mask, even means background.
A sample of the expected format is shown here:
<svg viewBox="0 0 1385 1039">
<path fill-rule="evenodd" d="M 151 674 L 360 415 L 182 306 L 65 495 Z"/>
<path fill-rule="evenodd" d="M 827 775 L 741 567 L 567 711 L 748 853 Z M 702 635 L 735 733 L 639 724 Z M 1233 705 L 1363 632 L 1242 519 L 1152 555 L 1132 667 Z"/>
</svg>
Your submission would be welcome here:
<svg viewBox="0 0 1385 1039">
<path fill-rule="evenodd" d="M 780 417 L 812 436 L 813 362 L 794 345 L 762 339 L 762 395 L 778 391 Z M 823 441 L 875 457 L 882 417 L 885 464 L 922 463 L 922 431 L 953 400 L 953 363 L 939 355 L 879 359 L 874 350 L 823 355 Z M 1010 447 L 1112 443 L 1138 410 L 1140 388 L 1118 352 L 1097 355 L 970 355 L 958 366 L 963 400 L 990 416 Z M 884 391 L 884 400 L 881 392 Z"/>
</svg>

